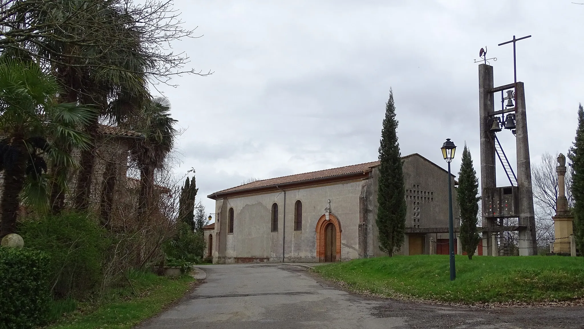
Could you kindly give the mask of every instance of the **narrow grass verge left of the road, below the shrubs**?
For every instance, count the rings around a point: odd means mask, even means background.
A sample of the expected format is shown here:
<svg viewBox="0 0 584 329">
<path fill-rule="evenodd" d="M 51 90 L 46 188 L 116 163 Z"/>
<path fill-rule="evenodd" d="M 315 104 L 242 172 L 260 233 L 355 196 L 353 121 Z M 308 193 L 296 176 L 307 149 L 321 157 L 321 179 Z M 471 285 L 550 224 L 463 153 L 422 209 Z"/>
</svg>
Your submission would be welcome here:
<svg viewBox="0 0 584 329">
<path fill-rule="evenodd" d="M 129 279 L 133 289 L 130 286 L 112 289 L 100 303 L 79 303 L 77 310 L 47 328 L 131 328 L 180 299 L 192 287 L 194 281 L 188 275 L 168 278 L 143 272 L 133 272 Z M 63 307 L 67 307 L 67 301 L 64 303 Z M 55 305 L 57 308 L 60 306 L 62 305 Z"/>
</svg>

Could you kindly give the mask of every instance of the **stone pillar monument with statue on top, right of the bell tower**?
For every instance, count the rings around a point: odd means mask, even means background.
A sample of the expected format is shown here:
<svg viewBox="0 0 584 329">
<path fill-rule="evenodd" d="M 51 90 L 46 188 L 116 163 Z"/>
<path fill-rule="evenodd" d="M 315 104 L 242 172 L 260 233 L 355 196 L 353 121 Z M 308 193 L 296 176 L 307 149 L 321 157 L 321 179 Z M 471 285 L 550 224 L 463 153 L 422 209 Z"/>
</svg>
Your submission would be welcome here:
<svg viewBox="0 0 584 329">
<path fill-rule="evenodd" d="M 564 176 L 566 174 L 566 157 L 564 154 L 559 154 L 558 167 L 555 167 L 558 173 L 558 200 L 555 202 L 555 216 L 554 220 L 554 253 L 570 252 L 570 236 L 572 235 L 572 221 L 574 216 L 568 207 L 568 198 L 566 198 L 566 188 Z"/>
</svg>

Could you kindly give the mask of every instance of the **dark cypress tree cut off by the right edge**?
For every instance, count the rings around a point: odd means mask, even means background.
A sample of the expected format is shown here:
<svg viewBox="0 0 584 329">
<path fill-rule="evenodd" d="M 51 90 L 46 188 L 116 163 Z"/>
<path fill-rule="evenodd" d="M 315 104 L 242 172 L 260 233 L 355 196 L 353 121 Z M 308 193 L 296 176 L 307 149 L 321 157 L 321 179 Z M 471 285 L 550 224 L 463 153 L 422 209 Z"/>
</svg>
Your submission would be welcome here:
<svg viewBox="0 0 584 329">
<path fill-rule="evenodd" d="M 572 166 L 572 198 L 574 206 L 574 235 L 576 237 L 576 247 L 580 250 L 580 255 L 584 253 L 584 109 L 582 104 L 578 108 L 578 128 L 576 129 L 576 139 L 573 147 L 568 152 Z"/>
</svg>

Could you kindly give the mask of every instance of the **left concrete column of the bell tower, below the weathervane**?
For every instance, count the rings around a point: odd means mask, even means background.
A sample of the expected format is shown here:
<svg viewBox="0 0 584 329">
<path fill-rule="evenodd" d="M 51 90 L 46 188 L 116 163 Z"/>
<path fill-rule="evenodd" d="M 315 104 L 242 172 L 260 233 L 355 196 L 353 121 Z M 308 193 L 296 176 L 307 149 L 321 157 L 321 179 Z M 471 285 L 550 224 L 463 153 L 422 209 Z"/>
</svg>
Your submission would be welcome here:
<svg viewBox="0 0 584 329">
<path fill-rule="evenodd" d="M 489 127 L 489 112 L 495 110 L 495 101 L 491 89 L 493 89 L 493 67 L 491 65 L 478 65 L 478 105 L 479 105 L 479 140 L 481 142 L 481 193 L 485 195 L 485 189 L 497 186 L 495 172 L 495 145 L 492 142 L 491 127 Z M 482 227 L 493 226 L 493 219 L 485 217 L 488 209 L 488 200 L 482 199 Z M 490 255 L 489 249 L 491 232 L 485 231 L 483 241 L 484 255 Z"/>
</svg>

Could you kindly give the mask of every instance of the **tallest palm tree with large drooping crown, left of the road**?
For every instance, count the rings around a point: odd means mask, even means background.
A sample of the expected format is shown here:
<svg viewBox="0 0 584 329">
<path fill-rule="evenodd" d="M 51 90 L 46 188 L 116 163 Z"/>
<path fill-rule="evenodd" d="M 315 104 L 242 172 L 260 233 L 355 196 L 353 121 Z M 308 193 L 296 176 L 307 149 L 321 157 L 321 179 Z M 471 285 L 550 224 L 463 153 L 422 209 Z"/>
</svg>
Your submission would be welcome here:
<svg viewBox="0 0 584 329">
<path fill-rule="evenodd" d="M 96 115 L 85 127 L 92 138 L 92 148 L 81 152 L 81 170 L 74 200 L 74 207 L 78 210 L 85 210 L 89 206 L 95 150 L 98 147 L 99 117 L 106 116 L 110 123 L 123 124 L 137 115 L 144 101 L 150 97 L 144 74 L 147 60 L 141 52 L 140 33 L 133 26 L 134 20 L 117 12 L 115 8 L 111 8 L 109 16 L 118 19 L 119 24 L 107 27 L 116 29 L 113 33 L 122 33 L 124 37 L 118 40 L 119 44 L 113 49 L 105 50 L 96 46 L 86 49 L 94 65 L 88 66 L 82 77 L 81 103 L 92 104 Z M 115 184 L 114 181 L 108 183 Z M 110 189 L 113 191 L 113 185 Z"/>
</svg>

